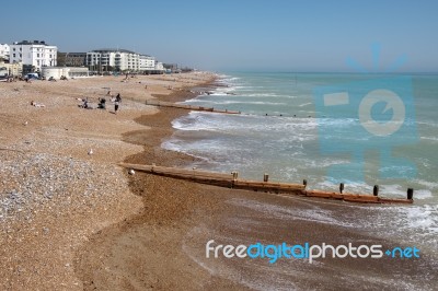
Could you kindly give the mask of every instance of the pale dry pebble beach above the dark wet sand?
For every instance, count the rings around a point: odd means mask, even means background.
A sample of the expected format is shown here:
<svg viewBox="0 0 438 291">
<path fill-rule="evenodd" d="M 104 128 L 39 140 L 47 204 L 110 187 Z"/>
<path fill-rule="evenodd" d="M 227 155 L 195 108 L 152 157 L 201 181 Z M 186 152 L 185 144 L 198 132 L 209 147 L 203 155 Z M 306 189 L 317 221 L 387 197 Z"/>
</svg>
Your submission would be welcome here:
<svg viewBox="0 0 438 291">
<path fill-rule="evenodd" d="M 123 135 L 148 129 L 134 119 L 158 112 L 145 105 L 153 94 L 210 79 L 187 73 L 0 83 L 0 289 L 83 289 L 73 268 L 78 247 L 142 207 L 117 166 L 142 146 Z M 122 95 L 117 114 L 108 91 Z M 88 98 L 96 107 L 100 97 L 106 109 L 78 106 Z"/>
</svg>

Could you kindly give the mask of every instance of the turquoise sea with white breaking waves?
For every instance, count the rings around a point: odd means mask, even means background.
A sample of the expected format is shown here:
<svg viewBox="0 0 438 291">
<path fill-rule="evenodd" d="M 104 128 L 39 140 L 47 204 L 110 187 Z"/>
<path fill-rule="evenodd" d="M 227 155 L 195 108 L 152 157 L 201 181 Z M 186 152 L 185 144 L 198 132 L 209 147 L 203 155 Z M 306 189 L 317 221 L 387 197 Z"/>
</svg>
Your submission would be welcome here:
<svg viewBox="0 0 438 291">
<path fill-rule="evenodd" d="M 373 207 L 367 228 L 437 255 L 438 74 L 226 72 L 184 103 L 241 112 L 173 120 L 162 147 L 198 158 L 189 166 L 391 198 L 412 188 L 413 205 Z"/>
</svg>

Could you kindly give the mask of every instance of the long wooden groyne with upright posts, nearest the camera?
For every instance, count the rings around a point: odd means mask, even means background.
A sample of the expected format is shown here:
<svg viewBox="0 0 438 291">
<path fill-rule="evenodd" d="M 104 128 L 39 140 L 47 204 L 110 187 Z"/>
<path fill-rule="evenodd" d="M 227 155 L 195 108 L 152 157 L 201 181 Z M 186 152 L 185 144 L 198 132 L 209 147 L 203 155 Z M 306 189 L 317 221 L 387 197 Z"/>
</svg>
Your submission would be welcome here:
<svg viewBox="0 0 438 291">
<path fill-rule="evenodd" d="M 292 194 L 307 197 L 318 197 L 326 199 L 344 200 L 349 202 L 361 202 L 361 203 L 413 203 L 413 189 L 407 190 L 406 199 L 397 198 L 382 198 L 378 196 L 379 187 L 374 186 L 372 194 L 349 194 L 343 193 L 344 184 L 339 185 L 339 193 L 335 191 L 323 191 L 323 190 L 307 190 L 307 181 L 302 184 L 289 184 L 289 183 L 273 183 L 268 182 L 268 175 L 265 174 L 263 182 L 240 179 L 237 172 L 231 174 L 214 173 L 198 170 L 168 167 L 158 165 L 139 165 L 139 164 L 127 164 L 120 163 L 123 167 L 129 168 L 129 171 L 139 171 L 149 174 L 188 179 L 196 183 L 215 185 L 234 189 L 245 189 L 254 191 L 266 191 L 275 194 Z M 134 173 L 134 172 L 131 172 Z"/>
</svg>

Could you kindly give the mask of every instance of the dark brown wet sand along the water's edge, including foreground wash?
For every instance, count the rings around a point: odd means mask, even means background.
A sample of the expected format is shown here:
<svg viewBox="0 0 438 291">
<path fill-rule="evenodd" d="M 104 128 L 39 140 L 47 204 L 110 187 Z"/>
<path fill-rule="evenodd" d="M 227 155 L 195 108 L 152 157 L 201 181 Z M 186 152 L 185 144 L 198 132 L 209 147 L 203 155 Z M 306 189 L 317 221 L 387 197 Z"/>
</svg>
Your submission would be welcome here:
<svg viewBox="0 0 438 291">
<path fill-rule="evenodd" d="M 161 100 L 187 97 L 173 94 Z M 173 132 L 171 121 L 184 114 L 160 108 L 155 115 L 137 118 L 150 129 L 127 132 L 124 140 L 143 146 L 145 151 L 125 162 L 165 166 L 194 162 L 160 147 Z M 210 240 L 234 246 L 257 242 L 403 246 L 356 226 L 364 220 L 374 223 L 372 208 L 379 206 L 232 190 L 143 173 L 128 179 L 142 200 L 141 212 L 93 235 L 78 252 L 74 268 L 85 290 L 413 290 L 433 289 L 437 279 L 436 260 L 427 254 L 415 259 L 320 258 L 312 264 L 206 258 Z"/>
</svg>

